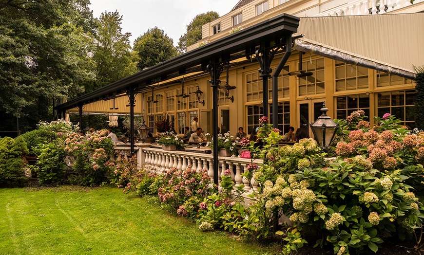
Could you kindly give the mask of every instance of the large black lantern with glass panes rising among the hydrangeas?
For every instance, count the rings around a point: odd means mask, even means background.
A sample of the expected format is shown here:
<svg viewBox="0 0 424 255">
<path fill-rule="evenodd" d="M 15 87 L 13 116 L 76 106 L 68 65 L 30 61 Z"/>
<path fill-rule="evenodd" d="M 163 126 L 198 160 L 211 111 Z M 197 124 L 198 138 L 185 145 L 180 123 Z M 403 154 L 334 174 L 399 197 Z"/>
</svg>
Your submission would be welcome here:
<svg viewBox="0 0 424 255">
<path fill-rule="evenodd" d="M 321 111 L 323 114 L 314 123 L 310 123 L 309 125 L 318 145 L 322 149 L 327 149 L 339 126 L 327 115 L 328 108 L 326 107 L 326 101 L 324 101 Z"/>
</svg>

